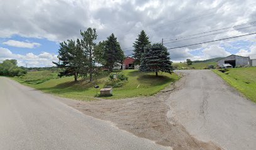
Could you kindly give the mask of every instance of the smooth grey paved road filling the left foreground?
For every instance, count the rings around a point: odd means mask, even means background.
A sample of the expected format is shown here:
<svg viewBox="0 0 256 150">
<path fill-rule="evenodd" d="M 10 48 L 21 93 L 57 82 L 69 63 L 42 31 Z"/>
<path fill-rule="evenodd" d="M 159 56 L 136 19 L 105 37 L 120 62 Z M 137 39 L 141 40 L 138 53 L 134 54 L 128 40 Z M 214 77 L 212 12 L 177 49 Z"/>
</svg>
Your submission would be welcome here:
<svg viewBox="0 0 256 150">
<path fill-rule="evenodd" d="M 0 78 L 0 149 L 171 149 Z"/>
</svg>

